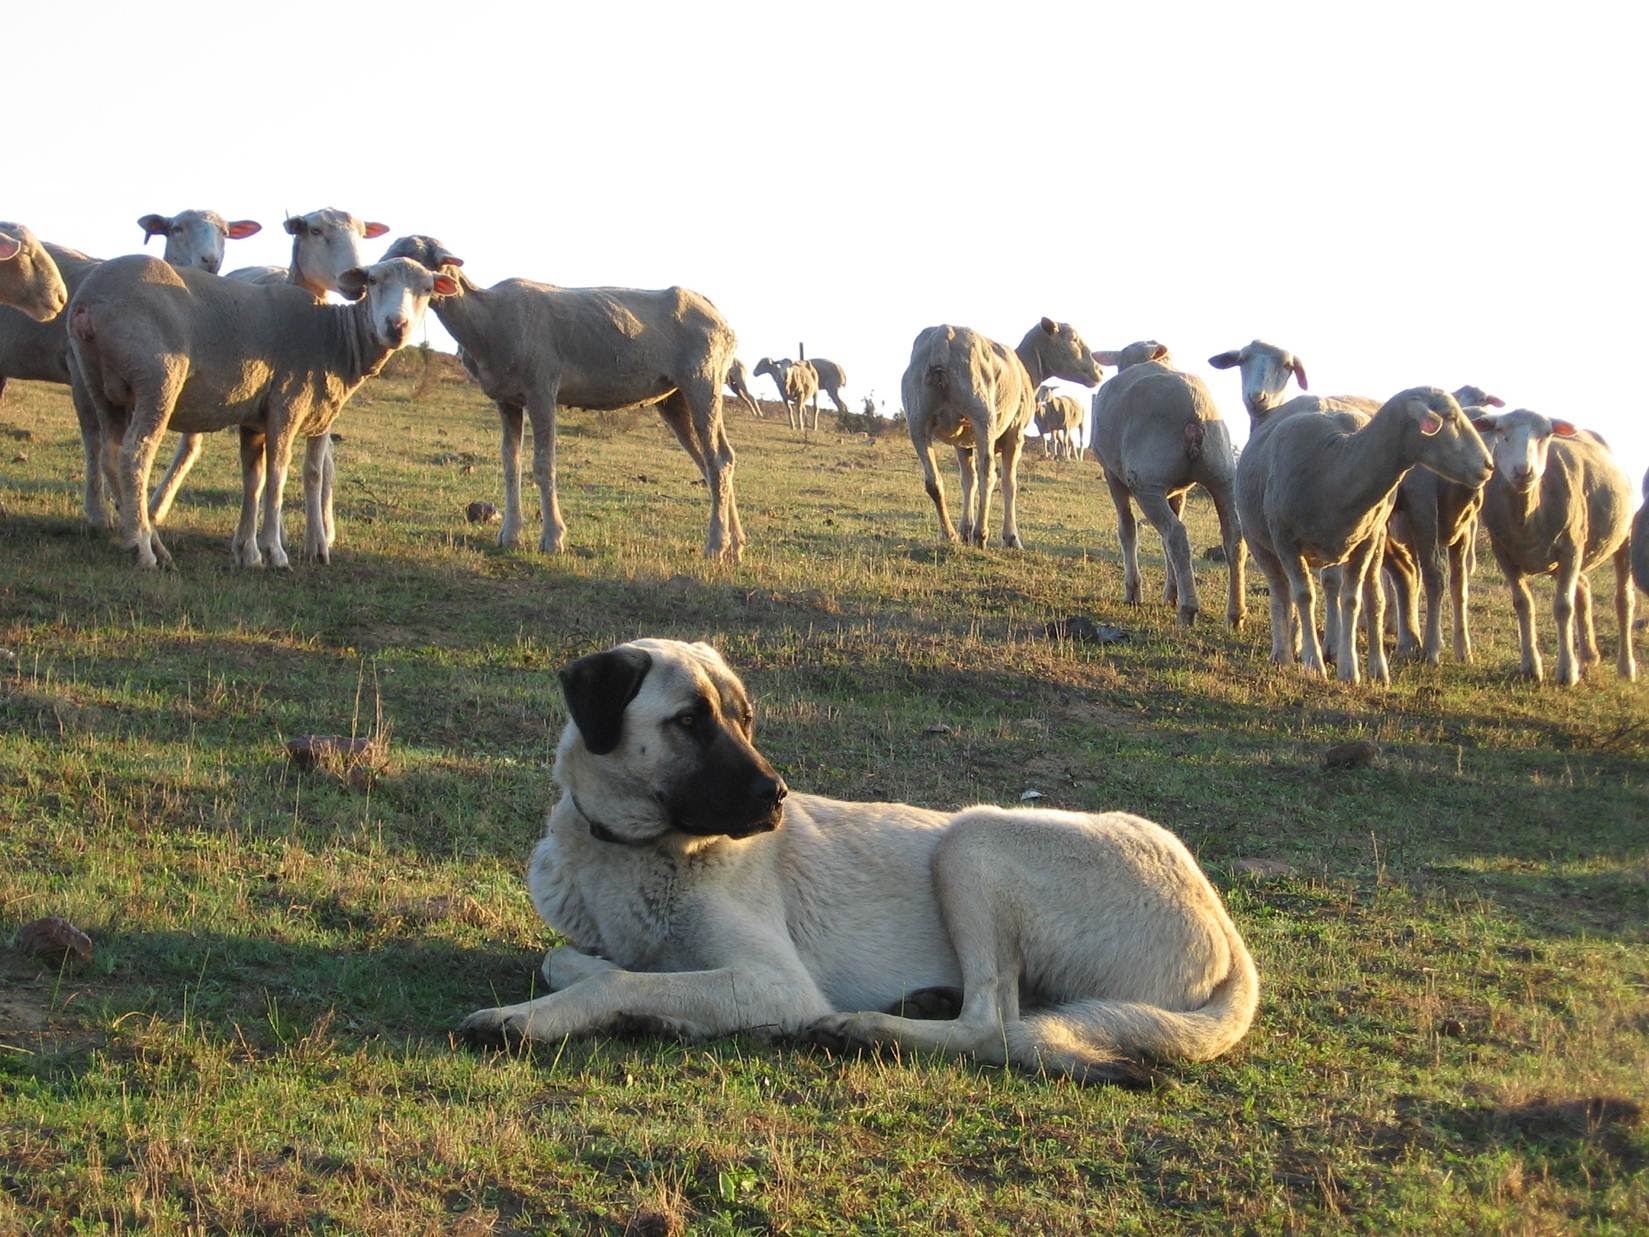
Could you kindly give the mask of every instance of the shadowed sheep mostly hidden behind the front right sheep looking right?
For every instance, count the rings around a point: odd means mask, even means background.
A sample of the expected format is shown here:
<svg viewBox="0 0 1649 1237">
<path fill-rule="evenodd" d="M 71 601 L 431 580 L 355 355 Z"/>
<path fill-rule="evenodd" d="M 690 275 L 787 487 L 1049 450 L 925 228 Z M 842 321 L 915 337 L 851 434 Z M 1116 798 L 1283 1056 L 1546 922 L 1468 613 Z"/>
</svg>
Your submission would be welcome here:
<svg viewBox="0 0 1649 1237">
<path fill-rule="evenodd" d="M 1499 396 L 1479 386 L 1454 393 L 1466 416 L 1504 407 Z M 1430 468 L 1410 468 L 1397 487 L 1397 505 L 1385 529 L 1385 571 L 1392 581 L 1392 614 L 1397 618 L 1397 656 L 1438 665 L 1443 660 L 1443 581 L 1454 604 L 1454 656 L 1471 661 L 1466 617 L 1469 579 L 1478 539 L 1482 490 L 1446 482 Z M 1420 586 L 1426 590 L 1426 632 L 1420 637 Z"/>
</svg>

